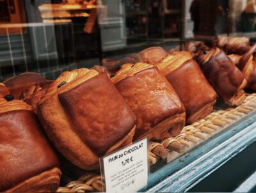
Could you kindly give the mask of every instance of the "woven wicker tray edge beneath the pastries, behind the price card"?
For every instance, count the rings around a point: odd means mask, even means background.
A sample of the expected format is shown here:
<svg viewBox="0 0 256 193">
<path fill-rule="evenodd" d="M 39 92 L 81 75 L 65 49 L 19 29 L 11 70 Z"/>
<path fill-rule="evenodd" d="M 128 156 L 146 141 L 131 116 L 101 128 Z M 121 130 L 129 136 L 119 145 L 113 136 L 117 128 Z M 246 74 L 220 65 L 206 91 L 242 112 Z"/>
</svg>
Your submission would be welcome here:
<svg viewBox="0 0 256 193">
<path fill-rule="evenodd" d="M 148 147 L 150 166 L 160 159 L 172 162 L 253 111 L 256 111 L 256 93 L 248 94 L 239 107 L 214 110 L 204 119 L 184 127 L 176 137 L 158 142 L 150 141 Z M 57 192 L 102 192 L 100 173 L 86 173 L 78 180 L 70 181 L 65 187 L 59 187 Z"/>
</svg>

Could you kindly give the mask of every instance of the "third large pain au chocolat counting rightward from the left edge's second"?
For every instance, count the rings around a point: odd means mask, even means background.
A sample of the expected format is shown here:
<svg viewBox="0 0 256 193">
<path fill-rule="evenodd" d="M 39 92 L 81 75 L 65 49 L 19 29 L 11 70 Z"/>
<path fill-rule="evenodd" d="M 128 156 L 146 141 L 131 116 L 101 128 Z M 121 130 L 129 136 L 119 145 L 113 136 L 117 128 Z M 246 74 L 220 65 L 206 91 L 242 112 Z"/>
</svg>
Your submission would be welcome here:
<svg viewBox="0 0 256 193">
<path fill-rule="evenodd" d="M 184 104 L 187 124 L 204 118 L 212 111 L 216 92 L 190 52 L 173 52 L 156 66 L 172 84 Z"/>
</svg>

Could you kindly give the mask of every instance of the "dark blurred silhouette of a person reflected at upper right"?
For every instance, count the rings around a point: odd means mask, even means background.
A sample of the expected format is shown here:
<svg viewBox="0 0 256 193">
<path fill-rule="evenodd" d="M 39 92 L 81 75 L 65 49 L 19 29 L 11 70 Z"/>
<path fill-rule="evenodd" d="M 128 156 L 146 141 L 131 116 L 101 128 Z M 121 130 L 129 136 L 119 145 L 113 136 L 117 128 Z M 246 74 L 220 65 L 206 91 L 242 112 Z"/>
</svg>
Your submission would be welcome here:
<svg viewBox="0 0 256 193">
<path fill-rule="evenodd" d="M 223 13 L 218 0 L 193 0 L 189 9 L 196 36 L 215 36 L 217 16 Z"/>
</svg>

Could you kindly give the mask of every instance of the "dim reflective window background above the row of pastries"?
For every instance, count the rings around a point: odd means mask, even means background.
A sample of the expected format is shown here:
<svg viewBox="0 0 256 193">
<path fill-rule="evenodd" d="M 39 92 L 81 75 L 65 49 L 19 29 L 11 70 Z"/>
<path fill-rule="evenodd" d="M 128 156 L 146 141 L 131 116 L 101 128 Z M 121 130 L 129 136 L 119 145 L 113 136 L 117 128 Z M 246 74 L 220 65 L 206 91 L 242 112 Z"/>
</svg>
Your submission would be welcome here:
<svg viewBox="0 0 256 193">
<path fill-rule="evenodd" d="M 93 65 L 115 70 L 152 46 L 255 40 L 255 0 L 1 0 L 0 10 L 0 81 L 22 72 L 52 80 Z"/>
</svg>

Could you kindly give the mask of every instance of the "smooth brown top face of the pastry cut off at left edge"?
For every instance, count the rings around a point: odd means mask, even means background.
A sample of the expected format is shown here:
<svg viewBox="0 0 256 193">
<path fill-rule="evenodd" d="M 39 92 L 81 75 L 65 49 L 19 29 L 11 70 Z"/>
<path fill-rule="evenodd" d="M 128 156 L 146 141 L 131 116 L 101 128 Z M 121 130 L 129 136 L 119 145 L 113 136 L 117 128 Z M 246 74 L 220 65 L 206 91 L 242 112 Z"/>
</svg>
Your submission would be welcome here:
<svg viewBox="0 0 256 193">
<path fill-rule="evenodd" d="M 33 112 L 1 112 L 0 135 L 1 192 L 58 166 Z"/>
</svg>

